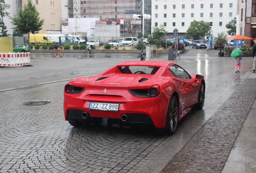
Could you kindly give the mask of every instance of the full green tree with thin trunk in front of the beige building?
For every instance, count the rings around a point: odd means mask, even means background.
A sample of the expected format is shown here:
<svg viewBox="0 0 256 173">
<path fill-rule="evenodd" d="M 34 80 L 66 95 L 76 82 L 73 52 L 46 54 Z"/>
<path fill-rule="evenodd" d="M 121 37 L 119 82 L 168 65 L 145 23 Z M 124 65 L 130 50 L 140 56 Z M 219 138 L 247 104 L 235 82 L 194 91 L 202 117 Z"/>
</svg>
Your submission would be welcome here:
<svg viewBox="0 0 256 173">
<path fill-rule="evenodd" d="M 32 0 L 27 0 L 27 2 L 24 10 L 19 8 L 18 15 L 14 14 L 14 17 L 10 17 L 11 24 L 15 25 L 13 29 L 21 34 L 37 34 L 42 29 L 44 19 L 40 20 L 40 14 L 32 4 Z"/>
</svg>

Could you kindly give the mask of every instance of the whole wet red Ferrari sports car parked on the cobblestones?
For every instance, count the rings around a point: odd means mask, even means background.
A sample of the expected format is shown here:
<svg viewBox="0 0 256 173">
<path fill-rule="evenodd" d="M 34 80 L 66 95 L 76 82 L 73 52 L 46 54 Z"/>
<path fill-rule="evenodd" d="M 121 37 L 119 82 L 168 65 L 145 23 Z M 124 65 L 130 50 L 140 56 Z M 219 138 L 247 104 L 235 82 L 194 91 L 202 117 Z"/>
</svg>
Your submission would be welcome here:
<svg viewBox="0 0 256 173">
<path fill-rule="evenodd" d="M 70 125 L 150 125 L 174 134 L 194 106 L 204 105 L 205 82 L 169 61 L 126 61 L 97 76 L 79 77 L 64 88 Z"/>
</svg>

